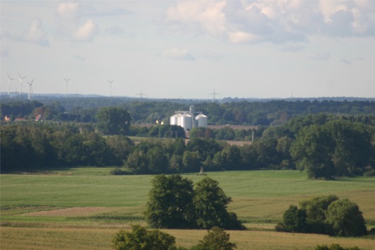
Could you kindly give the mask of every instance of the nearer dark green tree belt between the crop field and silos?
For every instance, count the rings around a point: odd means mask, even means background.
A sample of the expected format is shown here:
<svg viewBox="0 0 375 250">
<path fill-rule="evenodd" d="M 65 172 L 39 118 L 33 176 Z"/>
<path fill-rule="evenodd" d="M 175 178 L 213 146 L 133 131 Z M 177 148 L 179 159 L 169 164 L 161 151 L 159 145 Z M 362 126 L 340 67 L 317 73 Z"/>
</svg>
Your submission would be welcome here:
<svg viewBox="0 0 375 250">
<path fill-rule="evenodd" d="M 206 137 L 186 142 L 174 136 L 134 143 L 125 136 L 131 127 L 124 120 L 117 124 L 122 126 L 122 134 L 107 136 L 102 136 L 107 130 L 100 129 L 99 121 L 95 126 L 7 124 L 1 126 L 1 170 L 93 165 L 121 167 L 114 174 L 199 172 L 203 167 L 205 171 L 300 169 L 311 178 L 325 179 L 373 175 L 375 126 L 368 124 L 371 119 L 366 116 L 357 118 L 330 114 L 294 117 L 286 124 L 261 129 L 261 136 L 242 146 Z M 153 131 L 172 135 L 179 134 L 181 127 L 160 125 Z"/>
</svg>

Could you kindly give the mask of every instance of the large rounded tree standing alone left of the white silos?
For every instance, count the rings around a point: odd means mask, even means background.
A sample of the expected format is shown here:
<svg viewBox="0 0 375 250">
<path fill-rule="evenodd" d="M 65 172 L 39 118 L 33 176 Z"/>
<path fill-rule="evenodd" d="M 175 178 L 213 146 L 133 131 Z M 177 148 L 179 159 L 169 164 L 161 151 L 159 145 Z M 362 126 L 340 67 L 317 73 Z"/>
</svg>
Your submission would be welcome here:
<svg viewBox="0 0 375 250">
<path fill-rule="evenodd" d="M 121 107 L 102 107 L 97 111 L 97 129 L 105 135 L 127 135 L 130 114 Z"/>
</svg>

